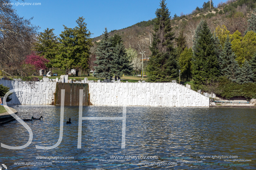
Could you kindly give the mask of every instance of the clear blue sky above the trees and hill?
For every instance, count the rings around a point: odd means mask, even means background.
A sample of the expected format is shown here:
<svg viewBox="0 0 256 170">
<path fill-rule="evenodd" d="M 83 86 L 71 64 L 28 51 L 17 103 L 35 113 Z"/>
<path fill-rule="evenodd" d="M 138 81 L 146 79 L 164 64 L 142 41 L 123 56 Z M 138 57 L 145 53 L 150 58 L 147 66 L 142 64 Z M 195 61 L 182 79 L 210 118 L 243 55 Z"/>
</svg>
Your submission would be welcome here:
<svg viewBox="0 0 256 170">
<path fill-rule="evenodd" d="M 166 0 L 171 16 L 180 16 L 192 12 L 197 6 L 202 7 L 208 0 Z M 87 29 L 93 33 L 92 38 L 108 31 L 121 29 L 155 18 L 155 10 L 159 8 L 160 0 L 18 0 L 18 3 L 41 3 L 41 5 L 14 5 L 17 13 L 25 18 L 34 17 L 32 24 L 46 28 L 54 28 L 56 35 L 64 30 L 63 25 L 74 28 L 79 16 L 85 18 Z M 214 5 L 221 0 L 213 0 Z M 224 2 L 224 1 L 223 1 Z M 13 0 L 13 3 L 17 1 Z"/>
</svg>

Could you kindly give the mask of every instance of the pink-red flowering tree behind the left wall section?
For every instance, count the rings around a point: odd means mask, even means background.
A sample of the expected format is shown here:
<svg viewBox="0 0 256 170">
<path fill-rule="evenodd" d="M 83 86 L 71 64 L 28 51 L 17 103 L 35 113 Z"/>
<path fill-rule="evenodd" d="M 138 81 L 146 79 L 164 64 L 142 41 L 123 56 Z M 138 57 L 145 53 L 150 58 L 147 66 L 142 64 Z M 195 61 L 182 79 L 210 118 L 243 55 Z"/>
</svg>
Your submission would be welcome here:
<svg viewBox="0 0 256 170">
<path fill-rule="evenodd" d="M 36 70 L 43 70 L 46 69 L 46 64 L 49 62 L 49 60 L 45 59 L 44 56 L 39 56 L 34 51 L 30 55 L 27 56 L 25 63 L 31 64 L 35 66 Z"/>
</svg>

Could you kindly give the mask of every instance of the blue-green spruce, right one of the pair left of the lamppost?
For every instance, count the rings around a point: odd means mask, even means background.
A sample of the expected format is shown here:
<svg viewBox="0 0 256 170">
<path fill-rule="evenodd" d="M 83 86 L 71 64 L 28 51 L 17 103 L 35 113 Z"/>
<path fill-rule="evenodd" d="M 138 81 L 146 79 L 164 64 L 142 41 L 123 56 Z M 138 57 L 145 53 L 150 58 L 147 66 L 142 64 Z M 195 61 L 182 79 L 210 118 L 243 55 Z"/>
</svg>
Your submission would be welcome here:
<svg viewBox="0 0 256 170">
<path fill-rule="evenodd" d="M 120 41 L 119 41 L 120 42 Z M 118 43 L 113 50 L 113 62 L 111 73 L 118 79 L 125 74 L 131 75 L 132 67 L 130 66 L 129 58 L 127 57 L 125 46 L 123 43 Z"/>
</svg>

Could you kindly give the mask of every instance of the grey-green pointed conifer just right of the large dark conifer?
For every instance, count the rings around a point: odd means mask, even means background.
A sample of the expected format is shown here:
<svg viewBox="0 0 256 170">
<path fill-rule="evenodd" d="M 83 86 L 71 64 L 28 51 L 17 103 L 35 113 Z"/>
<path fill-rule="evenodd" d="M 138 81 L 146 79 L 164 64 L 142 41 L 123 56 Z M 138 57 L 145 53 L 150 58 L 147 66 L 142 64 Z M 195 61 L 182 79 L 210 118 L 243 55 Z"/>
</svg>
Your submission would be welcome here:
<svg viewBox="0 0 256 170">
<path fill-rule="evenodd" d="M 236 82 L 241 73 L 240 67 L 235 58 L 235 53 L 231 49 L 229 36 L 227 36 L 224 49 L 219 57 L 219 62 L 221 63 L 221 74 L 233 82 Z"/>
</svg>

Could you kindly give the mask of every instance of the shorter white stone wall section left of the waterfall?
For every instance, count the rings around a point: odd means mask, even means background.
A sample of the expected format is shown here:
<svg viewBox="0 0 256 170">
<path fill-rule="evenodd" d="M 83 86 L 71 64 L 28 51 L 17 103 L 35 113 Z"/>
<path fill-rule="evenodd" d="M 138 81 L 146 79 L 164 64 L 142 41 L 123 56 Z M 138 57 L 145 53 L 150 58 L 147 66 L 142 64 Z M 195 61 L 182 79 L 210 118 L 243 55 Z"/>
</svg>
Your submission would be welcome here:
<svg viewBox="0 0 256 170">
<path fill-rule="evenodd" d="M 34 82 L 34 85 L 29 85 L 24 81 L 0 80 L 0 84 L 9 87 L 9 90 L 23 89 L 11 95 L 12 100 L 7 102 L 8 105 L 50 105 L 56 91 L 56 82 Z"/>
</svg>

